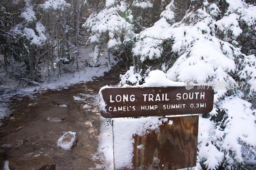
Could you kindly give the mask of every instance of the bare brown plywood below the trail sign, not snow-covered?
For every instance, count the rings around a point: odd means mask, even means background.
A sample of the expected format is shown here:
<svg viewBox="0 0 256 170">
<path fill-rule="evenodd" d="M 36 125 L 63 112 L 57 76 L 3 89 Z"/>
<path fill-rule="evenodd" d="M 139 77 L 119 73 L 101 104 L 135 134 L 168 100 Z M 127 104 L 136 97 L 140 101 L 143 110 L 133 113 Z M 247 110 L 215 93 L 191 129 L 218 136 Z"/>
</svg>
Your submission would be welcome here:
<svg viewBox="0 0 256 170">
<path fill-rule="evenodd" d="M 173 121 L 172 125 L 168 124 L 169 120 Z M 146 136 L 133 136 L 132 169 L 173 170 L 196 166 L 198 115 L 168 117 L 159 129 L 159 134 L 149 130 Z M 138 148 L 139 145 L 143 147 Z"/>
</svg>

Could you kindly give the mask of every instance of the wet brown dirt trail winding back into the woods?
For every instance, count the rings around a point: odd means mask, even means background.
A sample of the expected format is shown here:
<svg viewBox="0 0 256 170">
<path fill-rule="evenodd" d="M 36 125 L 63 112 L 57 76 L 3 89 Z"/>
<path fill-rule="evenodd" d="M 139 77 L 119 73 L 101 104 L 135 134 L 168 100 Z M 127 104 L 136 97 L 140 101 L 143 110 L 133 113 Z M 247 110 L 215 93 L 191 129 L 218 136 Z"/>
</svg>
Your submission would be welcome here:
<svg viewBox="0 0 256 170">
<path fill-rule="evenodd" d="M 117 84 L 123 71 L 117 66 L 92 82 L 69 86 L 61 91 L 44 91 L 35 100 L 29 97 L 13 100 L 12 109 L 15 111 L 0 127 L 0 166 L 8 158 L 32 159 L 45 154 L 55 160 L 56 169 L 97 169 L 96 165 L 103 163 L 91 158 L 98 148 L 100 113 L 97 98 L 90 97 L 97 96 L 104 85 Z M 84 101 L 74 100 L 73 96 Z M 56 106 L 61 104 L 68 107 Z M 93 108 L 85 110 L 85 104 Z M 65 120 L 50 122 L 47 117 L 64 117 Z M 78 140 L 74 148 L 65 151 L 57 147 L 57 140 L 68 131 L 76 132 Z"/>
</svg>

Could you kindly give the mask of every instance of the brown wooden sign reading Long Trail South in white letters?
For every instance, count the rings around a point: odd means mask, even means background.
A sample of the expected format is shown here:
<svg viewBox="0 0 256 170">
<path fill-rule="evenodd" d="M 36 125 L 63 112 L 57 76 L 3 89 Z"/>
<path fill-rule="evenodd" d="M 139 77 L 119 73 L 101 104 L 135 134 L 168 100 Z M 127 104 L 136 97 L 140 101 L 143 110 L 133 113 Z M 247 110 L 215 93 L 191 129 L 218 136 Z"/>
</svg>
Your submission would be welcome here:
<svg viewBox="0 0 256 170">
<path fill-rule="evenodd" d="M 211 86 L 108 87 L 99 96 L 105 118 L 204 114 L 213 108 Z"/>
</svg>

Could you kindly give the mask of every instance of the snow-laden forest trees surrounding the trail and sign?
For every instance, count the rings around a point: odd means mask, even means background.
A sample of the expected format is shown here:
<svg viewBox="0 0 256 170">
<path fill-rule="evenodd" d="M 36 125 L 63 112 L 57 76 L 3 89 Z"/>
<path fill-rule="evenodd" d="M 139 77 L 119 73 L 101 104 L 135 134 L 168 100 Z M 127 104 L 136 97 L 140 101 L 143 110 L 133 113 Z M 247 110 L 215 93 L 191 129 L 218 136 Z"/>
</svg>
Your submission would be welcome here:
<svg viewBox="0 0 256 170">
<path fill-rule="evenodd" d="M 120 85 L 147 83 L 152 70 L 161 70 L 168 81 L 207 83 L 214 88 L 214 109 L 199 119 L 196 168 L 254 169 L 255 5 L 254 0 L 1 1 L 1 93 L 10 79 L 18 87 L 40 86 L 64 73 L 97 68 L 103 56 L 111 67 L 112 55 L 126 63 Z M 78 62 L 81 48 L 90 48 L 90 62 Z"/>
</svg>

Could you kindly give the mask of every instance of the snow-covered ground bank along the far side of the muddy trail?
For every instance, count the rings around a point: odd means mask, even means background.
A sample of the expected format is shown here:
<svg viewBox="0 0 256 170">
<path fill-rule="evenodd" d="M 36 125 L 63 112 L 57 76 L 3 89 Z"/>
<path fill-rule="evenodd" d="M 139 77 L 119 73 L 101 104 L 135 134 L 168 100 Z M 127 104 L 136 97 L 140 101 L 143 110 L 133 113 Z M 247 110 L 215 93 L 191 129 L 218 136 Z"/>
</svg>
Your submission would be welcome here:
<svg viewBox="0 0 256 170">
<path fill-rule="evenodd" d="M 0 71 L 0 77 L 5 78 L 6 85 L 4 88 L 10 90 L 5 90 L 5 93 L 0 96 L 0 120 L 4 117 L 10 115 L 11 110 L 9 109 L 9 103 L 11 102 L 11 97 L 14 95 L 18 100 L 21 100 L 23 96 L 29 96 L 30 98 L 36 98 L 36 93 L 41 93 L 44 90 L 61 90 L 66 89 L 68 86 L 77 83 L 84 83 L 92 81 L 94 77 L 104 76 L 104 72 L 108 72 L 111 67 L 106 66 L 107 53 L 103 52 L 99 58 L 99 67 L 89 67 L 88 63 L 92 65 L 91 59 L 88 54 L 90 53 L 91 46 L 80 48 L 80 55 L 78 57 L 78 65 L 80 70 L 74 73 L 63 73 L 61 77 L 58 78 L 57 75 L 52 77 L 52 80 L 46 81 L 40 86 L 34 87 L 22 87 L 20 82 L 4 76 L 4 71 Z M 114 60 L 115 57 L 110 55 L 111 66 L 115 65 L 118 61 Z M 75 65 L 75 64 L 74 64 Z M 41 70 L 41 74 L 44 77 L 47 74 L 47 65 Z M 74 66 L 75 68 L 75 66 Z M 57 72 L 57 71 L 56 71 Z M 1 122 L 0 122 L 1 125 Z"/>
</svg>

